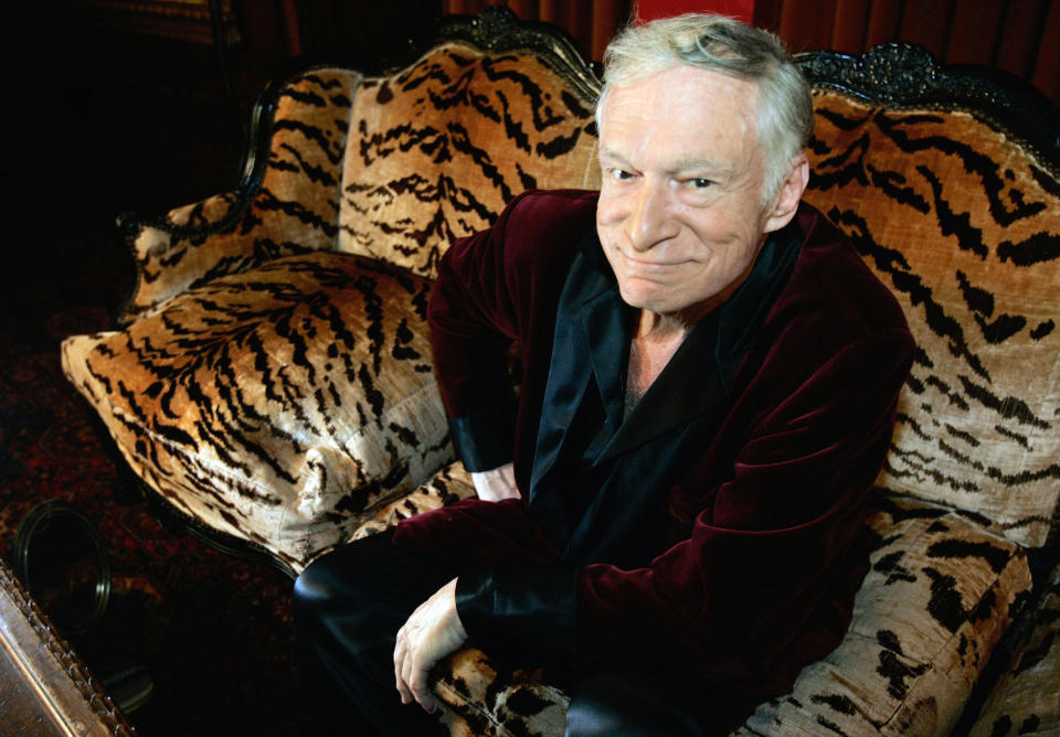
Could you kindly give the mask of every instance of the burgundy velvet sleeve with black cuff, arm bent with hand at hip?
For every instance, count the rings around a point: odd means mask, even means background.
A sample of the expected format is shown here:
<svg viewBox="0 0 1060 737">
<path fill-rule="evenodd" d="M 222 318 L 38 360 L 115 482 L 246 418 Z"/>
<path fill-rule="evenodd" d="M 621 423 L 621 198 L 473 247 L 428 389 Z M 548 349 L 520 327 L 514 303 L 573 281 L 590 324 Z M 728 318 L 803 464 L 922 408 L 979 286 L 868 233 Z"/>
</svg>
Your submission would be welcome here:
<svg viewBox="0 0 1060 737">
<path fill-rule="evenodd" d="M 595 204 L 594 192 L 524 193 L 492 227 L 454 243 L 438 265 L 427 309 L 435 373 L 469 471 L 507 463 L 526 447 L 516 438 L 509 346 L 551 337 L 563 278 Z M 542 361 L 547 373 L 548 355 L 523 350 L 521 359 L 523 381 L 540 381 Z M 521 468 L 517 462 L 517 476 Z"/>
</svg>

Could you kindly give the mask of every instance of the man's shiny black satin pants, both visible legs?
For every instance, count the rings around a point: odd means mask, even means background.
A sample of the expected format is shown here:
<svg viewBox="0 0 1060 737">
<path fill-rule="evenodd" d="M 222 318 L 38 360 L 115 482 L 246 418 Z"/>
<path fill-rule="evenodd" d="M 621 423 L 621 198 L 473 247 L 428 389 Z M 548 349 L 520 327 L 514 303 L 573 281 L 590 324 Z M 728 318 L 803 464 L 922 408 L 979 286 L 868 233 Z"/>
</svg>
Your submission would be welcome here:
<svg viewBox="0 0 1060 737">
<path fill-rule="evenodd" d="M 340 547 L 295 583 L 296 632 L 319 687 L 332 692 L 335 735 L 446 734 L 418 704 L 401 703 L 393 652 L 409 616 L 459 569 L 391 537 L 386 532 Z M 569 737 L 724 735 L 755 701 L 672 666 L 580 670 Z"/>
</svg>

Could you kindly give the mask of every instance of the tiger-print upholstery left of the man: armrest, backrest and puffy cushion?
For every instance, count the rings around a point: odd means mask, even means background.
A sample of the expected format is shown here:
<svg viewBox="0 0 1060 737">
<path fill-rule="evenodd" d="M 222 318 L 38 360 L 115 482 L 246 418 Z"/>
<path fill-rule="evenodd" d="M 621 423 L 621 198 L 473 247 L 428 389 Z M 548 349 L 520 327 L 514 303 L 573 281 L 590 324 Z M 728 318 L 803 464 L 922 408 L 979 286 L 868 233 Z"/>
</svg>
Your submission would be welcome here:
<svg viewBox="0 0 1060 737">
<path fill-rule="evenodd" d="M 127 329 L 63 344 L 137 476 L 299 572 L 452 460 L 428 279 L 522 190 L 597 184 L 580 95 L 533 55 L 457 42 L 282 86 L 244 191 L 144 225 Z"/>
</svg>

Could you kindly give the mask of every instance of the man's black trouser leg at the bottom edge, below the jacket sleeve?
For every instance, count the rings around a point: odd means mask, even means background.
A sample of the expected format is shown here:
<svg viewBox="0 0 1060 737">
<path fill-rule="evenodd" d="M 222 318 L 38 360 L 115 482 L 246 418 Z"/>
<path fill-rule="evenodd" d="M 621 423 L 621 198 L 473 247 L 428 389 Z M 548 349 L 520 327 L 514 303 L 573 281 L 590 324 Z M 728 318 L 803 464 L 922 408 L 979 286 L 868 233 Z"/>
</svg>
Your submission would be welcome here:
<svg viewBox="0 0 1060 737">
<path fill-rule="evenodd" d="M 682 669 L 606 667 L 574 690 L 566 737 L 728 735 L 756 701 Z"/>
</svg>

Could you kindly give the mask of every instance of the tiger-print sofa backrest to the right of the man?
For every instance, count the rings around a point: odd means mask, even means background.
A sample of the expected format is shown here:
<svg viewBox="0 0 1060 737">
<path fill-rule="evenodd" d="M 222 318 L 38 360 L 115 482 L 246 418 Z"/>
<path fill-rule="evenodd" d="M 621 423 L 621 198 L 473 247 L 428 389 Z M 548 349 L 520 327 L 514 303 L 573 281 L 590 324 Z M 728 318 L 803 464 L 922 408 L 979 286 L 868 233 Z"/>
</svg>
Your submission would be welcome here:
<svg viewBox="0 0 1060 737">
<path fill-rule="evenodd" d="M 964 113 L 814 98 L 806 200 L 901 301 L 918 352 L 879 483 L 1024 545 L 1060 498 L 1060 180 Z"/>
</svg>

